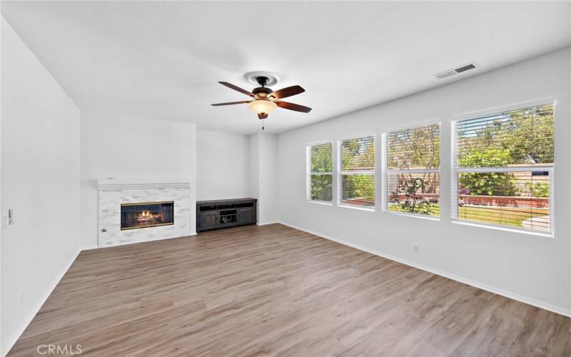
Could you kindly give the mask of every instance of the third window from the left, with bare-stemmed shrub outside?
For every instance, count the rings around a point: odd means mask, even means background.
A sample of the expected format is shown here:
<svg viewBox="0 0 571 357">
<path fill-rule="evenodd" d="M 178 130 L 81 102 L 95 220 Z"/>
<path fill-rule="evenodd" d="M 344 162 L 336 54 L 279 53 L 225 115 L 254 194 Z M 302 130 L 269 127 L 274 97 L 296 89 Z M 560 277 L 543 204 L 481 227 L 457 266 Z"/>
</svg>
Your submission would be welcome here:
<svg viewBox="0 0 571 357">
<path fill-rule="evenodd" d="M 440 216 L 440 125 L 385 134 L 385 210 Z"/>
</svg>

